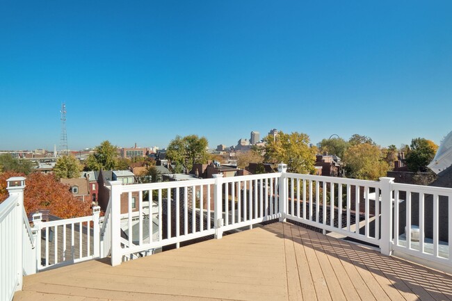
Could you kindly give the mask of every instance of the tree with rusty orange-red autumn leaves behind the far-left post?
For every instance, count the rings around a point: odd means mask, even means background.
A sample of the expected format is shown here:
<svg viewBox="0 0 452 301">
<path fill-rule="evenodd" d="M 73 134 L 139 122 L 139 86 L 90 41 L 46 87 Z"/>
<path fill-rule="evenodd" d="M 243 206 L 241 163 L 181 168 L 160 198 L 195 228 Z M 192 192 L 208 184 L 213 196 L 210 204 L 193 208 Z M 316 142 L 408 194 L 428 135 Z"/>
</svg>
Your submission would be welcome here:
<svg viewBox="0 0 452 301">
<path fill-rule="evenodd" d="M 17 172 L 0 174 L 0 203 L 8 198 L 6 180 L 10 177 L 24 177 Z M 92 215 L 91 202 L 82 202 L 70 193 L 69 187 L 56 180 L 52 174 L 33 172 L 26 176 L 24 207 L 27 214 L 48 209 L 50 214 L 60 218 L 75 218 Z"/>
</svg>

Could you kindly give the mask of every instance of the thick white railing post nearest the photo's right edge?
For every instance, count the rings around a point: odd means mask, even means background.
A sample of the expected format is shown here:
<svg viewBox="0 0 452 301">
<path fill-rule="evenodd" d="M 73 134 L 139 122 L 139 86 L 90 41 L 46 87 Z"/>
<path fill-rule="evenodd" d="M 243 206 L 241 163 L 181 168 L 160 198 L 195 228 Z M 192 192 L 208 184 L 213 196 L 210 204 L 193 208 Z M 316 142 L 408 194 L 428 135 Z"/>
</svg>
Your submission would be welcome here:
<svg viewBox="0 0 452 301">
<path fill-rule="evenodd" d="M 381 177 L 381 236 L 380 252 L 385 255 L 392 254 L 391 236 L 392 236 L 392 184 L 394 178 Z M 376 200 L 378 202 L 378 200 Z M 395 200 L 394 202 L 398 202 Z M 396 225 L 397 227 L 397 225 Z M 378 231 L 376 229 L 375 231 Z"/>
</svg>

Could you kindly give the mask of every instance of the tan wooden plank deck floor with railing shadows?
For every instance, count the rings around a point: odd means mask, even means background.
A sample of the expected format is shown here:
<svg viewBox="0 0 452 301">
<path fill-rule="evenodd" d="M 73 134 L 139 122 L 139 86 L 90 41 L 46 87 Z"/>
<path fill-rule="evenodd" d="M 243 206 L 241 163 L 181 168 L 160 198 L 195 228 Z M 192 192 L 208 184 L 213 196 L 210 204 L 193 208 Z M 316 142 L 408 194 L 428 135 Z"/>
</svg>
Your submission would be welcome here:
<svg viewBox="0 0 452 301">
<path fill-rule="evenodd" d="M 14 300 L 452 300 L 452 277 L 276 222 L 116 267 L 40 272 Z"/>
</svg>

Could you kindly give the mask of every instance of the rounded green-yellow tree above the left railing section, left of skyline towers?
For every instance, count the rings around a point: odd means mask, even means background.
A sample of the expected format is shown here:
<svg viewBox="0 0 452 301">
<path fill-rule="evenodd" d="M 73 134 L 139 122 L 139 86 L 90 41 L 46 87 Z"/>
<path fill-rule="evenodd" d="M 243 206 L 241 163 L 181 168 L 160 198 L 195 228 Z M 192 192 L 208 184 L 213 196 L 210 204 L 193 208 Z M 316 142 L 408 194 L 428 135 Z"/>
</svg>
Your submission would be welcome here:
<svg viewBox="0 0 452 301">
<path fill-rule="evenodd" d="M 168 145 L 166 158 L 171 163 L 175 163 L 175 171 L 181 172 L 182 169 L 185 169 L 185 172 L 188 173 L 193 168 L 193 164 L 207 163 L 209 158 L 207 154 L 208 145 L 209 143 L 204 137 L 189 135 L 182 138 L 178 135 Z"/>
</svg>

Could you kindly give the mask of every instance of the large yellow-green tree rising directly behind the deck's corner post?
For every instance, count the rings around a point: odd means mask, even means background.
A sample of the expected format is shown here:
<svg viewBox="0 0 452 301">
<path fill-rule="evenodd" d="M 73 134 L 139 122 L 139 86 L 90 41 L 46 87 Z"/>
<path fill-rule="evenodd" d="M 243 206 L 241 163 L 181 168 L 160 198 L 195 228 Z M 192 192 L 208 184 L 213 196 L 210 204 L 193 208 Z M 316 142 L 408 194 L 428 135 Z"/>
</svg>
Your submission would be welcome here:
<svg viewBox="0 0 452 301">
<path fill-rule="evenodd" d="M 265 160 L 273 163 L 284 162 L 289 172 L 314 172 L 316 149 L 309 147 L 309 136 L 305 133 L 283 133 L 276 139 L 273 135 L 264 138 L 266 142 Z"/>
</svg>

